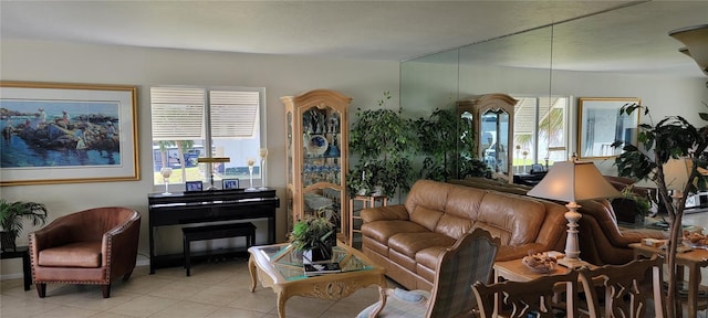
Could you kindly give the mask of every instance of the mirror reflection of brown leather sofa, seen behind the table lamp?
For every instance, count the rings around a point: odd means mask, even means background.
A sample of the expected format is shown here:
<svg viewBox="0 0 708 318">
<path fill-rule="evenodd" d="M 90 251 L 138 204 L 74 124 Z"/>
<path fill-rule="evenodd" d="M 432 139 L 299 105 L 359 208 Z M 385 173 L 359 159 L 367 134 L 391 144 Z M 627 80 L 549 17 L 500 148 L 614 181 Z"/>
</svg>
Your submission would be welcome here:
<svg viewBox="0 0 708 318">
<path fill-rule="evenodd" d="M 624 186 L 618 184 L 618 182 L 627 182 L 617 177 L 605 176 L 605 179 L 613 186 L 623 189 Z M 501 183 L 483 178 L 467 178 L 450 180 L 449 182 L 511 193 L 525 193 L 531 190 L 531 187 Z M 579 202 L 579 204 L 582 205 L 579 212 L 583 214 L 577 227 L 580 231 L 580 257 L 583 261 L 595 265 L 625 264 L 634 258 L 634 251 L 629 247 L 631 243 L 639 243 L 644 237 L 665 237 L 664 233 L 659 230 L 620 227 L 617 225 L 615 211 L 608 200 L 582 201 Z M 564 250 L 564 247 L 559 251 L 562 250 Z"/>
</svg>

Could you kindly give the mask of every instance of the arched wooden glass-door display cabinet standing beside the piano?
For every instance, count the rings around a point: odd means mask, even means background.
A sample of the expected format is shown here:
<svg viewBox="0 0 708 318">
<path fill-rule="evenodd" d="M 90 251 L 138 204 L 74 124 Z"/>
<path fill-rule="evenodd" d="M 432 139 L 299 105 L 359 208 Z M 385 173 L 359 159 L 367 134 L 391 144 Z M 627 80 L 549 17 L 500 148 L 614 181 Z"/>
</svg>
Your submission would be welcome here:
<svg viewBox="0 0 708 318">
<path fill-rule="evenodd" d="M 287 125 L 287 206 L 298 220 L 322 211 L 346 234 L 346 172 L 348 106 L 351 97 L 331 89 L 314 89 L 281 97 Z"/>
</svg>

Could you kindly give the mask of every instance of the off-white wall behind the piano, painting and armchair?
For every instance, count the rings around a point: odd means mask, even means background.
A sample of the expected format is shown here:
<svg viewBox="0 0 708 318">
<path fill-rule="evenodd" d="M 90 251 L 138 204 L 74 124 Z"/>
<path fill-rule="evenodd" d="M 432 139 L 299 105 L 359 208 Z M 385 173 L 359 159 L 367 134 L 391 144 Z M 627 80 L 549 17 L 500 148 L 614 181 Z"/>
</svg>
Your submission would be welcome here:
<svg viewBox="0 0 708 318">
<path fill-rule="evenodd" d="M 37 201 L 48 205 L 50 220 L 94 206 L 123 205 L 143 214 L 138 259 L 148 255 L 147 193 L 160 192 L 152 176 L 150 109 L 152 85 L 205 85 L 266 87 L 268 113 L 267 147 L 269 187 L 278 190 L 277 236 L 285 240 L 284 195 L 284 107 L 281 96 L 313 88 L 331 88 L 353 98 L 351 114 L 357 107 L 376 107 L 384 91 L 398 96 L 398 62 L 327 60 L 299 56 L 236 54 L 164 49 L 138 49 L 2 39 L 0 80 L 87 84 L 128 84 L 138 86 L 137 123 L 142 180 L 0 188 L 10 201 Z M 262 224 L 262 225 L 261 225 Z M 256 223 L 266 231 L 266 223 Z M 37 229 L 25 224 L 18 240 L 27 245 L 27 234 Z M 266 237 L 259 232 L 259 240 Z M 177 229 L 162 229 L 157 237 L 167 253 L 181 251 Z M 264 240 L 264 239 L 263 239 Z M 261 242 L 258 242 L 261 243 Z M 160 252 L 160 254 L 163 254 Z M 20 277 L 20 259 L 2 261 L 3 278 Z"/>
</svg>

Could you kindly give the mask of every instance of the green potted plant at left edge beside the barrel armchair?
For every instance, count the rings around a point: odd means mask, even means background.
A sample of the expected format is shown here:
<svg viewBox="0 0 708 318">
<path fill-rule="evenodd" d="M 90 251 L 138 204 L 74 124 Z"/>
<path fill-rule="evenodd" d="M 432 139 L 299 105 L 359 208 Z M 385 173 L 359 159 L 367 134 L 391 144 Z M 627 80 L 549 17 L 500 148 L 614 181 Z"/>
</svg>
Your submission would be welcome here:
<svg viewBox="0 0 708 318">
<path fill-rule="evenodd" d="M 17 237 L 22 232 L 22 219 L 32 221 L 32 225 L 43 225 L 46 222 L 46 206 L 37 202 L 8 202 L 0 199 L 0 227 L 2 231 L 2 251 L 15 251 Z"/>
</svg>

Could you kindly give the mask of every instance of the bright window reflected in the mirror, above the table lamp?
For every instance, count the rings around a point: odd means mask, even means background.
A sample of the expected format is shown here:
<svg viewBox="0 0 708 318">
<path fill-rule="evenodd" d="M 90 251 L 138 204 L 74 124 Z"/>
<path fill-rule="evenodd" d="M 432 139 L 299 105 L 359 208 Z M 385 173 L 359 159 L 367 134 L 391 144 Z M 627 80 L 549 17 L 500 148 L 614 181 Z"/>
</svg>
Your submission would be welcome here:
<svg viewBox="0 0 708 318">
<path fill-rule="evenodd" d="M 518 97 L 514 106 L 514 173 L 532 163 L 551 166 L 568 160 L 569 97 Z"/>
</svg>

